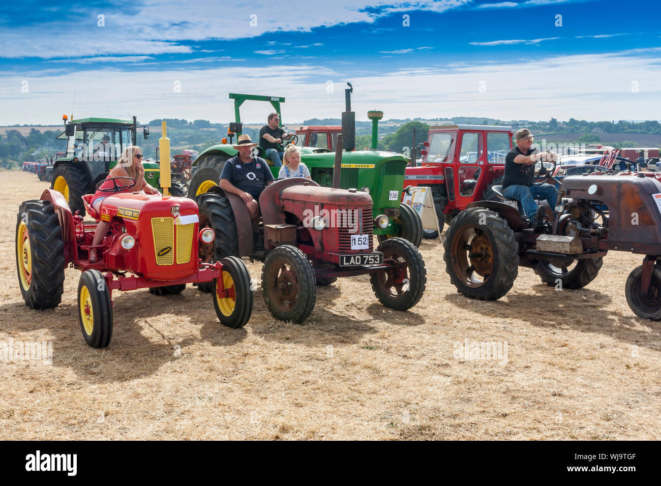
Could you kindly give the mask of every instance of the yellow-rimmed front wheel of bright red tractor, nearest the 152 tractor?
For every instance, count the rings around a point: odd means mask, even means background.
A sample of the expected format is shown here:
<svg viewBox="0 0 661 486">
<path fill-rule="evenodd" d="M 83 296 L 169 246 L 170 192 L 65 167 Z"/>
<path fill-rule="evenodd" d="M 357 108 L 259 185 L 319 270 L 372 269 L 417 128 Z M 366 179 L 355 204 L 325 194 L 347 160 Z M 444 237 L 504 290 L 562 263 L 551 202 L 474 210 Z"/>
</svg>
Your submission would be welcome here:
<svg viewBox="0 0 661 486">
<path fill-rule="evenodd" d="M 218 296 L 218 279 L 214 279 L 215 313 L 222 325 L 238 329 L 246 325 L 253 313 L 253 282 L 241 259 L 227 257 L 220 263 L 223 264 L 223 288 L 227 296 Z"/>
</svg>

